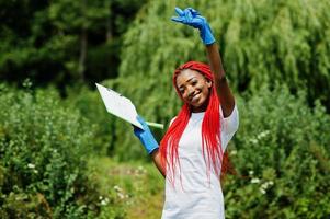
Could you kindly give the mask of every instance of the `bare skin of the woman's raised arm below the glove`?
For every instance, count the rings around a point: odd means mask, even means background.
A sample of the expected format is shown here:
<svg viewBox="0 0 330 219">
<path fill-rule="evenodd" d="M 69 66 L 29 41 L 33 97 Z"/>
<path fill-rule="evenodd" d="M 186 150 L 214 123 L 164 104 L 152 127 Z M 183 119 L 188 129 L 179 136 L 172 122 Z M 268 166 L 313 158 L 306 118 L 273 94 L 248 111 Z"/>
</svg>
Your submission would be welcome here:
<svg viewBox="0 0 330 219">
<path fill-rule="evenodd" d="M 206 51 L 210 70 L 214 74 L 214 83 L 216 87 L 217 95 L 220 100 L 223 115 L 224 117 L 228 117 L 235 107 L 235 99 L 225 78 L 225 70 L 217 44 L 214 43 L 207 45 Z"/>
</svg>

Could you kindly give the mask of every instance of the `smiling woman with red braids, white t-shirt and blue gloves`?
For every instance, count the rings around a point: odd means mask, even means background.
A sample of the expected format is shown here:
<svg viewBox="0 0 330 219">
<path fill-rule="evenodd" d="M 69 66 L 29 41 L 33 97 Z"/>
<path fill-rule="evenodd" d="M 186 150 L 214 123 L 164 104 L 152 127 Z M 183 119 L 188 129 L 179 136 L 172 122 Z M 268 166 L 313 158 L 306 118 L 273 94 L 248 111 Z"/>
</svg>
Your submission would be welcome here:
<svg viewBox="0 0 330 219">
<path fill-rule="evenodd" d="M 189 61 L 174 71 L 173 85 L 183 106 L 158 147 L 143 118 L 135 128 L 166 177 L 162 218 L 225 218 L 219 176 L 224 151 L 238 129 L 238 111 L 228 87 L 217 44 L 205 18 L 175 8 L 172 21 L 200 31 L 209 66 Z"/>
</svg>

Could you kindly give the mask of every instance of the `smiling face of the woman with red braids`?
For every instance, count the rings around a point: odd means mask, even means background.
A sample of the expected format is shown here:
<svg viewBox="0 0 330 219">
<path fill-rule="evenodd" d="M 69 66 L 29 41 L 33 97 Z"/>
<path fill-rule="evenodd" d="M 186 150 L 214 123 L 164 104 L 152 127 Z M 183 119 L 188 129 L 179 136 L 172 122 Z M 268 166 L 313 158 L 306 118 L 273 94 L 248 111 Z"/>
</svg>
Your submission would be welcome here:
<svg viewBox="0 0 330 219">
<path fill-rule="evenodd" d="M 177 87 L 185 103 L 192 112 L 206 111 L 212 81 L 198 71 L 184 69 L 177 77 Z"/>
</svg>

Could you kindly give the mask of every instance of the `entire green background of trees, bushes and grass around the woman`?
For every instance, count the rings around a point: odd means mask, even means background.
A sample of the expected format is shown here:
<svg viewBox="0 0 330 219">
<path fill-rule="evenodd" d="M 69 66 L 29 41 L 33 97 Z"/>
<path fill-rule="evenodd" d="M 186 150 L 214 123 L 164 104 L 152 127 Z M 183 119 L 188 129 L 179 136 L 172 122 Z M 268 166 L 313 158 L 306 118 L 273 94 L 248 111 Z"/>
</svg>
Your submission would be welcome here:
<svg viewBox="0 0 330 219">
<path fill-rule="evenodd" d="M 163 178 L 94 83 L 168 126 L 173 70 L 207 61 L 174 7 L 209 21 L 239 108 L 226 218 L 329 217 L 329 1 L 18 0 L 0 2 L 0 218 L 160 218 Z"/>
</svg>

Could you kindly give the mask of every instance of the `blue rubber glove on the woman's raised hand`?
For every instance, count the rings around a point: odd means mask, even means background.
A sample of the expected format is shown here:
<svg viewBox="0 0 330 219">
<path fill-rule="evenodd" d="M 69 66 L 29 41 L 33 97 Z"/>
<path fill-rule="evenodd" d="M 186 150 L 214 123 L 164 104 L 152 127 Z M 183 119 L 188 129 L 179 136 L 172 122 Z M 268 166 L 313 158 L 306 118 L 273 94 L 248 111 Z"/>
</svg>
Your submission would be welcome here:
<svg viewBox="0 0 330 219">
<path fill-rule="evenodd" d="M 198 28 L 201 38 L 205 45 L 210 45 L 215 42 L 207 20 L 204 16 L 201 16 L 200 12 L 192 8 L 187 8 L 182 11 L 178 7 L 175 8 L 175 12 L 178 16 L 172 16 L 172 21 Z"/>
</svg>

